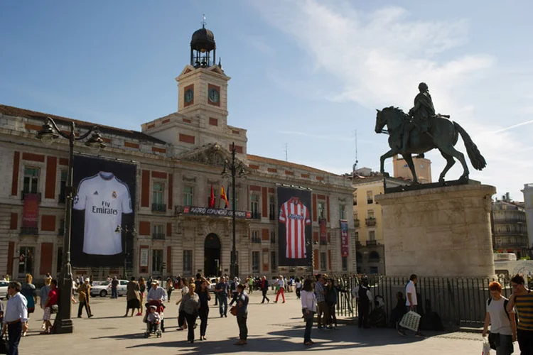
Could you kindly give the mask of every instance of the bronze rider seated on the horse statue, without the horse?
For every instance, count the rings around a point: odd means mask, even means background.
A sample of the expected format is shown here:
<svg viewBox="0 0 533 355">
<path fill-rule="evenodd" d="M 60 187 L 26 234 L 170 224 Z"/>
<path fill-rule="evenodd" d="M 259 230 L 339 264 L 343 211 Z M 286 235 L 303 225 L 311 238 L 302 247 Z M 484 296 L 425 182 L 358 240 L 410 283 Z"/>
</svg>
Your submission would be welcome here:
<svg viewBox="0 0 533 355">
<path fill-rule="evenodd" d="M 426 133 L 431 129 L 431 119 L 436 117 L 428 85 L 421 82 L 419 91 L 419 94 L 414 98 L 414 107 L 409 110 L 409 116 L 412 117 L 413 121 L 407 121 L 405 124 L 402 148 L 400 149 L 402 152 L 407 151 L 407 142 L 409 142 L 411 131 L 417 127 L 421 133 Z"/>
</svg>

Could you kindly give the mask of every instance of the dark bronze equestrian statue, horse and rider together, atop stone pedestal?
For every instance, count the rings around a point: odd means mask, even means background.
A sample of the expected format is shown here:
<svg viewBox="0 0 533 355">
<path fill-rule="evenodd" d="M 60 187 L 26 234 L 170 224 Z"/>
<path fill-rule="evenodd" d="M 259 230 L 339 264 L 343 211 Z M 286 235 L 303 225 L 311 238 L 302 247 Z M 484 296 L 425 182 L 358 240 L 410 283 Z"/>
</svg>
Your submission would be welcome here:
<svg viewBox="0 0 533 355">
<path fill-rule="evenodd" d="M 459 134 L 463 138 L 466 153 L 473 168 L 483 170 L 487 166 L 485 158 L 463 127 L 450 121 L 450 116 L 435 114 L 433 100 L 426 83 L 421 82 L 419 84 L 419 91 L 419 94 L 414 98 L 414 107 L 409 110 L 409 114 L 405 114 L 404 111 L 396 107 L 387 107 L 381 111 L 376 110 L 375 131 L 376 133 L 389 134 L 389 146 L 391 148 L 380 158 L 380 172 L 385 174 L 385 159 L 401 154 L 413 174 L 413 182 L 418 183 L 411 155 L 417 154 L 419 157 L 423 157 L 424 153 L 436 148 L 446 159 L 446 167 L 438 177 L 438 182 L 444 182 L 444 176 L 456 163 L 453 158 L 458 159 L 463 165 L 463 175 L 461 175 L 460 180 L 468 181 L 469 171 L 465 157 L 463 153 L 453 148 L 458 141 Z M 384 130 L 384 126 L 387 126 L 387 131 Z"/>
</svg>

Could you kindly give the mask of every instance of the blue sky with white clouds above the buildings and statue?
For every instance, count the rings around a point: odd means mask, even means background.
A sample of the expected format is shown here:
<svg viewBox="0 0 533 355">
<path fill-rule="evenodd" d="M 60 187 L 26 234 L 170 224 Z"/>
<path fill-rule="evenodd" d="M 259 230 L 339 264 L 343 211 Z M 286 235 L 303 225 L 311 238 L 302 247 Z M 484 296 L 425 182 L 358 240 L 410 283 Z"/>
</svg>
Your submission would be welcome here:
<svg viewBox="0 0 533 355">
<path fill-rule="evenodd" d="M 409 109 L 425 81 L 488 160 L 470 178 L 515 200 L 533 182 L 531 1 L 2 1 L 0 13 L 1 104 L 140 130 L 176 111 L 205 13 L 249 153 L 284 159 L 287 143 L 290 161 L 345 173 L 357 130 L 359 165 L 377 170 L 375 108 Z M 444 160 L 426 156 L 436 180 Z"/>
</svg>

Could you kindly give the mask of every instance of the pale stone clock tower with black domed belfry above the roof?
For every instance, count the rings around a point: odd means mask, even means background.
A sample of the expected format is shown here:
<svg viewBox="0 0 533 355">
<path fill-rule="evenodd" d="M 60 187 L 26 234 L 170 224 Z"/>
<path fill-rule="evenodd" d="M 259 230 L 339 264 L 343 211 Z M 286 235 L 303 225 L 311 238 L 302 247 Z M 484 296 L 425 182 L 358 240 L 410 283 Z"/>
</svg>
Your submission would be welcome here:
<svg viewBox="0 0 533 355">
<path fill-rule="evenodd" d="M 170 143 L 185 153 L 208 144 L 247 154 L 247 132 L 227 124 L 227 82 L 220 60 L 216 60 L 215 35 L 203 23 L 190 40 L 190 62 L 178 82 L 178 111 L 142 125 L 142 131 Z"/>
</svg>

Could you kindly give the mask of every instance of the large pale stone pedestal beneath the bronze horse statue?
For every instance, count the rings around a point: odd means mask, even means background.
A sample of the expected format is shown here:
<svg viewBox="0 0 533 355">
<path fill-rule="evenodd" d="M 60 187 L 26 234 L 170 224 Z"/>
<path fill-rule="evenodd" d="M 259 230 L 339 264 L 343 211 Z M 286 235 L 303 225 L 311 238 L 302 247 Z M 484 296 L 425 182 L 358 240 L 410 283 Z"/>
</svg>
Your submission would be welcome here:
<svg viewBox="0 0 533 355">
<path fill-rule="evenodd" d="M 387 275 L 492 277 L 496 188 L 469 184 L 377 195 Z"/>
</svg>

